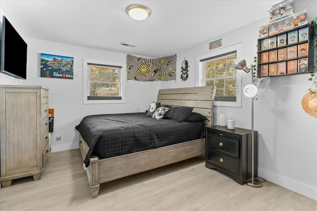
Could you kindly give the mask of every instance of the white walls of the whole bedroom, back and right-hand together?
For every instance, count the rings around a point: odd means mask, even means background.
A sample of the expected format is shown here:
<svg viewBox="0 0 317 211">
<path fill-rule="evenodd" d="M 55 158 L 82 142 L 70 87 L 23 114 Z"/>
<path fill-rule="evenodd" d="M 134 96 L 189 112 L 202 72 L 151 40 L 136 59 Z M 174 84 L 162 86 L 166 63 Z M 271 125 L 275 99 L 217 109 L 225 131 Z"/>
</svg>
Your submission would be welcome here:
<svg viewBox="0 0 317 211">
<path fill-rule="evenodd" d="M 317 14 L 316 1 L 304 1 L 296 10 L 308 9 L 310 19 Z M 267 18 L 268 19 L 268 18 Z M 211 38 L 200 45 L 177 52 L 177 80 L 170 82 L 126 82 L 126 103 L 84 105 L 83 59 L 126 63 L 126 54 L 45 42 L 25 38 L 28 43 L 27 80 L 18 80 L 0 74 L 0 84 L 43 85 L 50 88 L 50 108 L 55 109 L 52 152 L 78 148 L 79 134 L 75 130 L 86 115 L 101 113 L 143 112 L 156 100 L 159 88 L 196 85 L 196 57 L 211 52 L 208 44 L 222 38 L 223 46 L 242 43 L 242 58 L 253 64 L 259 26 L 267 19 Z M 216 48 L 217 49 L 217 48 Z M 215 49 L 215 50 L 216 50 Z M 74 80 L 40 78 L 40 53 L 74 57 Z M 189 78 L 180 79 L 181 63 L 189 62 Z M 254 127 L 259 132 L 259 176 L 299 194 L 317 200 L 317 119 L 306 114 L 301 99 L 310 87 L 309 75 L 272 77 L 261 91 L 261 99 L 254 103 Z M 251 76 L 242 73 L 242 87 L 251 83 Z M 251 101 L 242 96 L 241 108 L 215 107 L 214 124 L 225 113 L 236 119 L 236 127 L 251 128 Z M 56 141 L 60 134 L 61 141 Z"/>
</svg>

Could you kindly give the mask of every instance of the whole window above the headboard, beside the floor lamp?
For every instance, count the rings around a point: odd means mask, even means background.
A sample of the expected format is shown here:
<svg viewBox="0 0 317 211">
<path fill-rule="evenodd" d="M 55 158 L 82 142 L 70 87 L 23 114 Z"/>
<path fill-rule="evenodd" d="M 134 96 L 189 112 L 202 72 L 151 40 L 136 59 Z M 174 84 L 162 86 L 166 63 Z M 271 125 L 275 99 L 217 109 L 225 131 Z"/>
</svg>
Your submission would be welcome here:
<svg viewBox="0 0 317 211">
<path fill-rule="evenodd" d="M 241 107 L 241 71 L 237 71 L 240 44 L 197 57 L 199 85 L 215 85 L 215 106 Z"/>
</svg>

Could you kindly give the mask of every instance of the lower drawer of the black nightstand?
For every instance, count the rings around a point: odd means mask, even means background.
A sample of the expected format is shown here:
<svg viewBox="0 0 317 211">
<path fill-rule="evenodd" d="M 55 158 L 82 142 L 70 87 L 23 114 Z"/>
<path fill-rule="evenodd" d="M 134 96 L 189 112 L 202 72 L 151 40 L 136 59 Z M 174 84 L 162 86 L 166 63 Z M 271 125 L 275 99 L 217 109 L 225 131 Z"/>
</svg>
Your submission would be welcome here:
<svg viewBox="0 0 317 211">
<path fill-rule="evenodd" d="M 208 149 L 207 161 L 211 162 L 222 169 L 239 175 L 239 159 L 233 158 L 217 151 Z"/>
</svg>

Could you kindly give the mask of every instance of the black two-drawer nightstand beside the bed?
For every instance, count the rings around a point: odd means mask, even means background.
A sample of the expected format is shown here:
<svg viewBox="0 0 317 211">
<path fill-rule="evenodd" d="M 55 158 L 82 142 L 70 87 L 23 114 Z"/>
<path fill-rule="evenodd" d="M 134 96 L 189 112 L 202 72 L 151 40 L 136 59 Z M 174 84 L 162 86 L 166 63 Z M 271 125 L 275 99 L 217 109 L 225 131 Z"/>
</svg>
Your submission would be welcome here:
<svg viewBox="0 0 317 211">
<path fill-rule="evenodd" d="M 251 130 L 206 127 L 206 167 L 246 183 L 252 176 Z M 254 175 L 258 175 L 258 131 L 254 131 Z"/>
</svg>

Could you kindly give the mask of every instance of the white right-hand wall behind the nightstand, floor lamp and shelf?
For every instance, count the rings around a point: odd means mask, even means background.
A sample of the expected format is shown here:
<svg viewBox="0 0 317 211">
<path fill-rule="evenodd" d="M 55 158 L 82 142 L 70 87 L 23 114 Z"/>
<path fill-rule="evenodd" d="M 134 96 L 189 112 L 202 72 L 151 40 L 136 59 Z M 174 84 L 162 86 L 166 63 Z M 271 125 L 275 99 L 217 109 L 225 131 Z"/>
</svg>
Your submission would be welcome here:
<svg viewBox="0 0 317 211">
<path fill-rule="evenodd" d="M 310 20 L 317 14 L 317 1 L 304 1 L 296 5 L 296 12 L 308 10 Z M 210 53 L 209 42 L 222 39 L 224 48 L 242 43 L 242 59 L 248 66 L 255 64 L 259 27 L 267 18 L 234 30 L 177 53 L 177 82 L 162 83 L 161 88 L 196 85 L 196 57 Z M 215 48 L 213 50 L 218 50 Z M 180 67 L 185 59 L 189 63 L 189 79 L 179 80 Z M 242 71 L 243 72 L 243 71 Z M 251 73 L 242 73 L 242 88 L 251 83 Z M 311 87 L 309 74 L 271 77 L 271 83 L 260 90 L 260 99 L 254 101 L 254 129 L 259 132 L 258 174 L 280 186 L 317 201 L 317 118 L 304 112 L 302 97 Z M 242 107 L 214 107 L 214 125 L 220 114 L 236 120 L 236 127 L 251 129 L 251 99 L 242 96 Z"/>
</svg>

